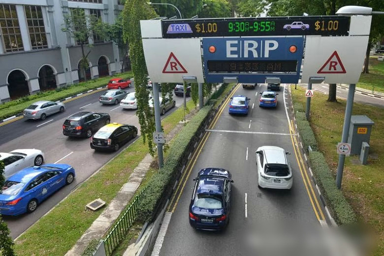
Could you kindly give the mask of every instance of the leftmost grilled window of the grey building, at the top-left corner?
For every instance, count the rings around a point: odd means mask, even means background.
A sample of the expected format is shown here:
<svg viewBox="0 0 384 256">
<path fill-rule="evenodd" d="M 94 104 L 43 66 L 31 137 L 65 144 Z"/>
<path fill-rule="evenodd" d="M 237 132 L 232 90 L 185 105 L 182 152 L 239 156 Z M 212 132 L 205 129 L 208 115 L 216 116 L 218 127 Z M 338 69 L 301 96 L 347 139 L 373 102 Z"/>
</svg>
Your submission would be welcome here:
<svg viewBox="0 0 384 256">
<path fill-rule="evenodd" d="M 24 51 L 19 20 L 14 4 L 0 4 L 0 29 L 4 52 Z"/>
</svg>

